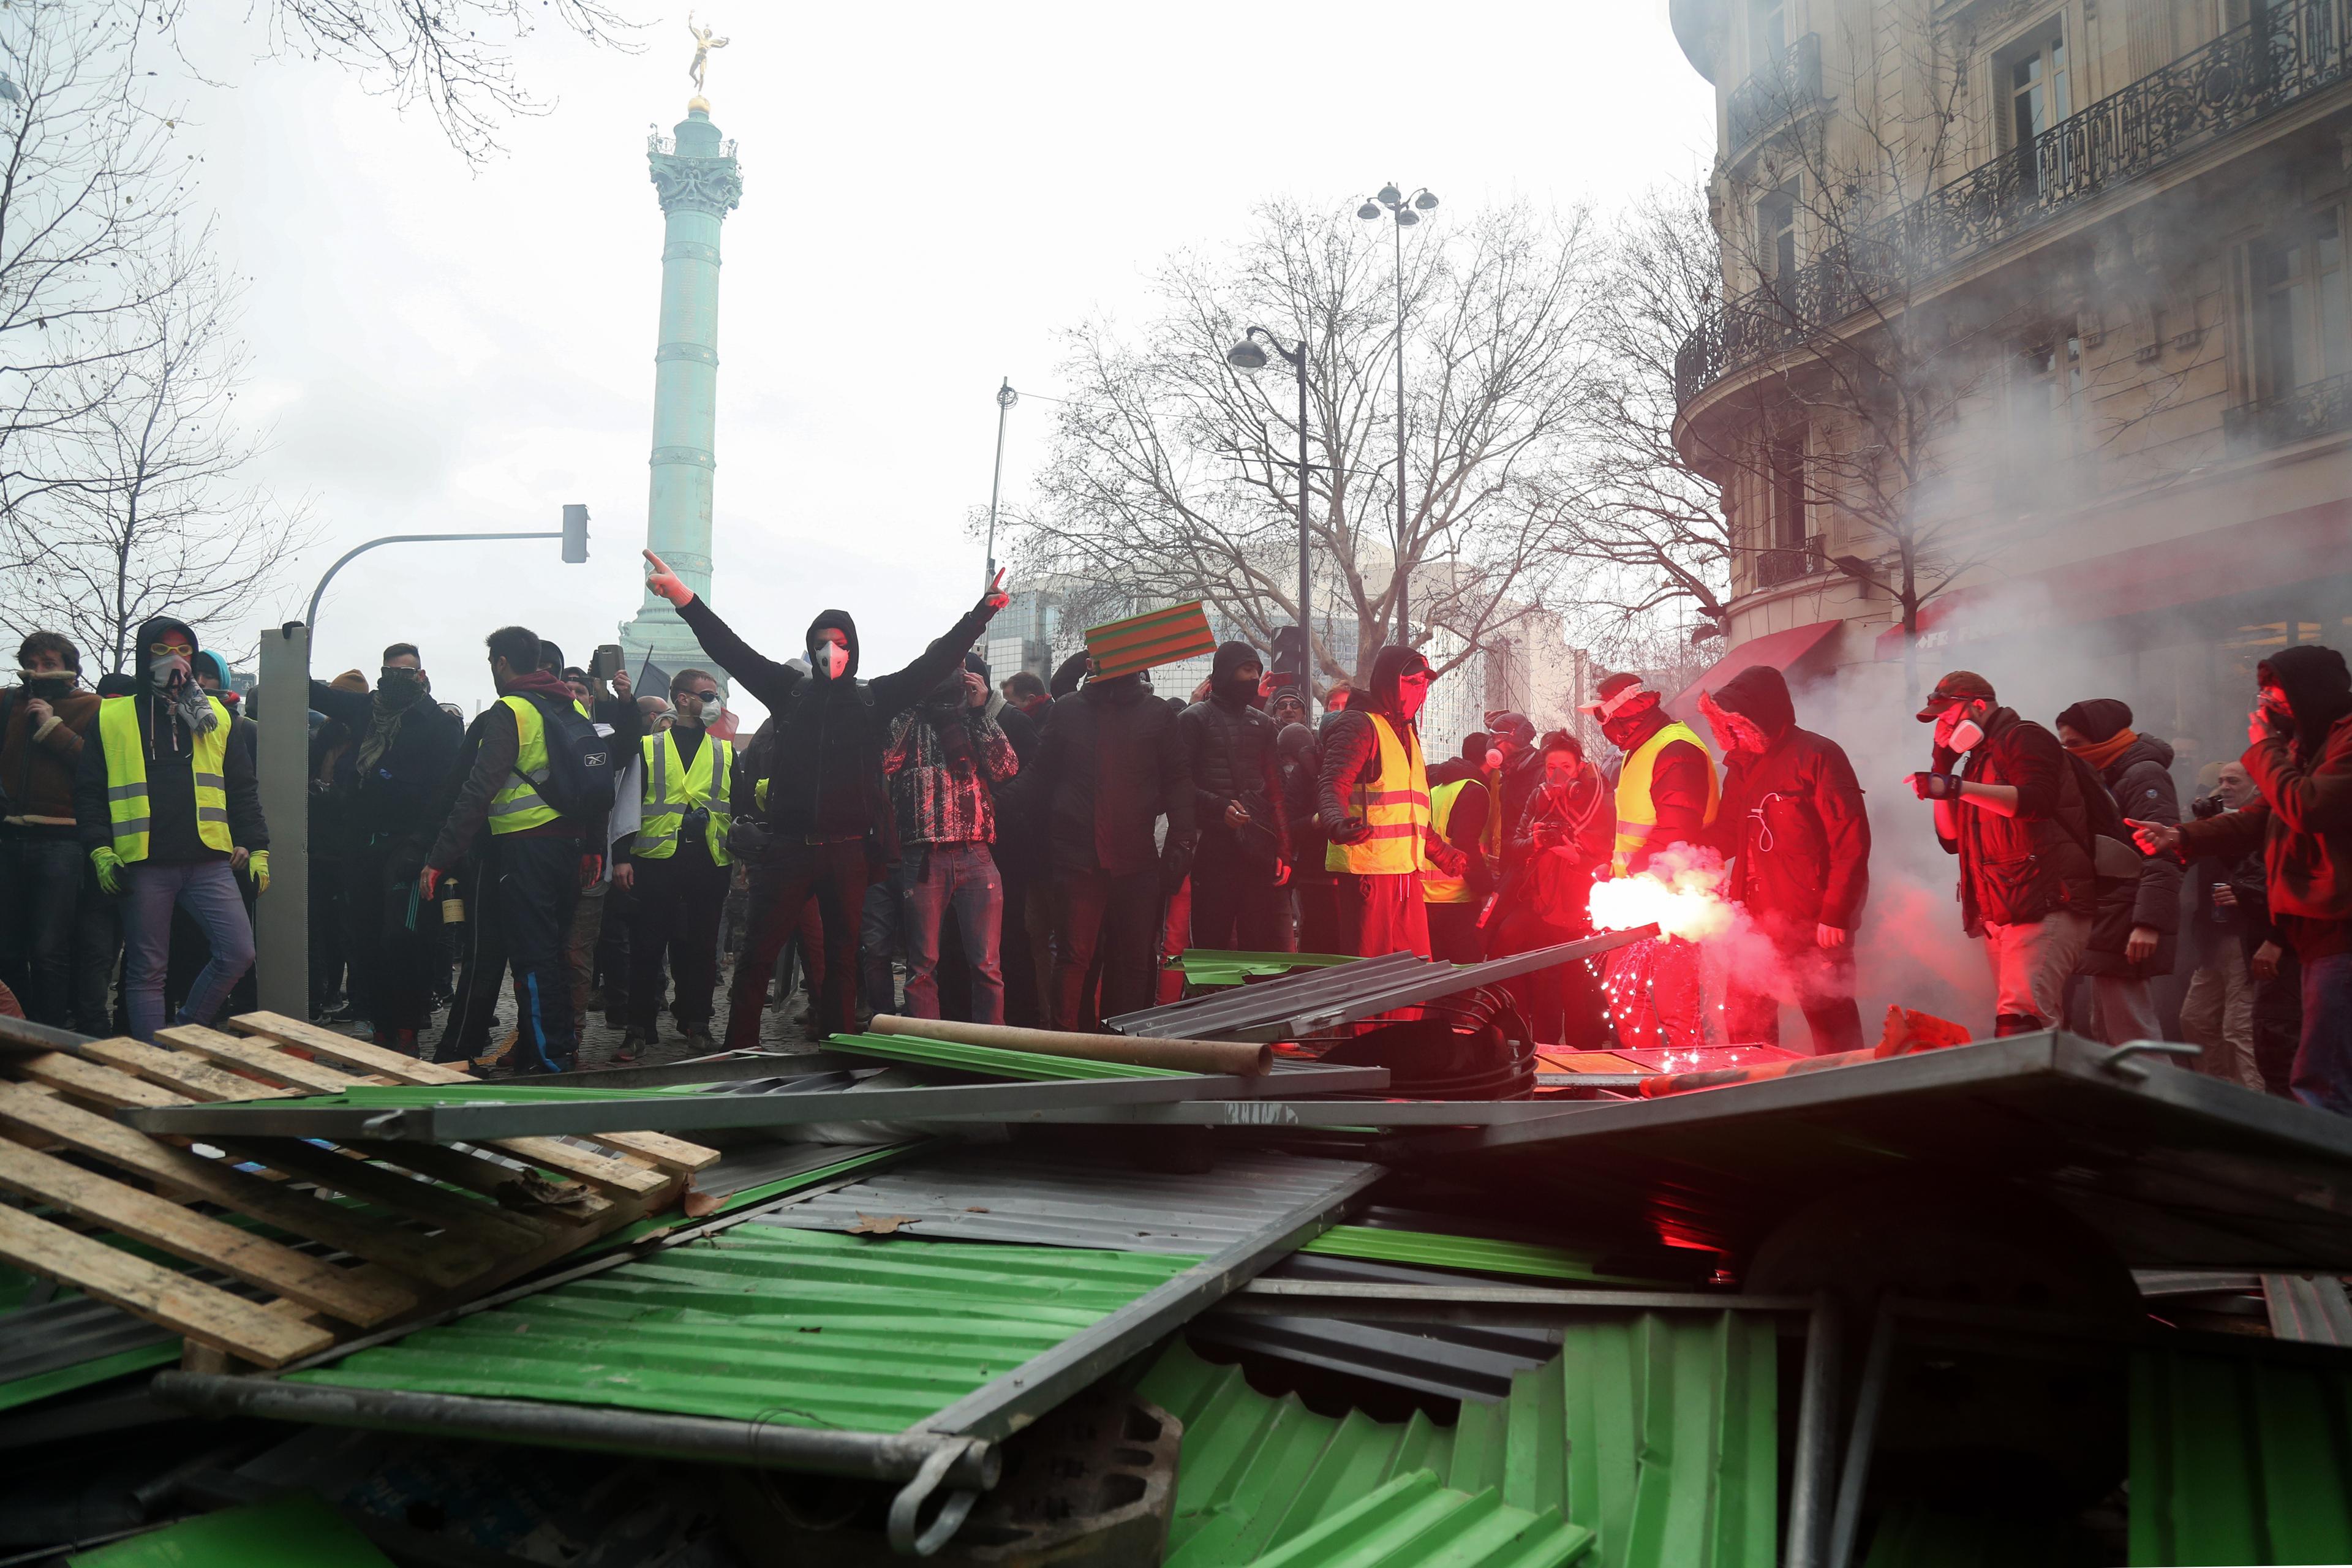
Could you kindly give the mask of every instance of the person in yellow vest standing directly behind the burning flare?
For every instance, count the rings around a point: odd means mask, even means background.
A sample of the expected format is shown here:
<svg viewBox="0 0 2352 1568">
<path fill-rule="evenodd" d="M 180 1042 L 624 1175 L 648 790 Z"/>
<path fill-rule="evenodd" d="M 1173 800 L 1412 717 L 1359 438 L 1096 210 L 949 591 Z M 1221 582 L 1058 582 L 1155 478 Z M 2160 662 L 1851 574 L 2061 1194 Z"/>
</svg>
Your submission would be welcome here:
<svg viewBox="0 0 2352 1568">
<path fill-rule="evenodd" d="M 1602 738 L 1625 752 L 1616 783 L 1611 875 L 1635 877 L 1675 846 L 1708 842 L 1722 809 L 1715 755 L 1639 675 L 1609 675 L 1581 705 Z M 1628 1046 L 1691 1051 L 1705 1044 L 1698 947 L 1679 936 L 1618 947 L 1604 961 L 1618 999 L 1618 1037 Z"/>
</svg>

